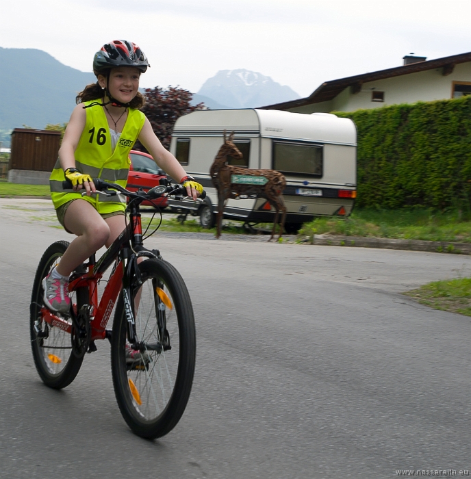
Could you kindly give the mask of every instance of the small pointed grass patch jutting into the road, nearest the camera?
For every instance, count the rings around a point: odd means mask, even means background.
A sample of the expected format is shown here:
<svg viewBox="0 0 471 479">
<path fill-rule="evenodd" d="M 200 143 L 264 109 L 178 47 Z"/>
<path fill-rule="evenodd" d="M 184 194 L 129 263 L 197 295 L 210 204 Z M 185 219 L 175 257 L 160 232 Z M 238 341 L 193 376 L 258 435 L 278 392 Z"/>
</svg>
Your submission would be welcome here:
<svg viewBox="0 0 471 479">
<path fill-rule="evenodd" d="M 434 281 L 404 294 L 433 309 L 471 316 L 471 278 Z"/>
</svg>

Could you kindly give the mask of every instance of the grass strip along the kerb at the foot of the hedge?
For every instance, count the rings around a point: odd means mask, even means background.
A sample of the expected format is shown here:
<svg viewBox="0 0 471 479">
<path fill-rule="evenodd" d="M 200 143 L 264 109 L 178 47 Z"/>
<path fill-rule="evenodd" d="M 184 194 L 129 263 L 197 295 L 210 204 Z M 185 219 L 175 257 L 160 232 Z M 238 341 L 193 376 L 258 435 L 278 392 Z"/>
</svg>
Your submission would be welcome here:
<svg viewBox="0 0 471 479">
<path fill-rule="evenodd" d="M 461 210 L 355 209 L 349 218 L 316 218 L 300 233 L 471 243 L 471 220 Z"/>
</svg>

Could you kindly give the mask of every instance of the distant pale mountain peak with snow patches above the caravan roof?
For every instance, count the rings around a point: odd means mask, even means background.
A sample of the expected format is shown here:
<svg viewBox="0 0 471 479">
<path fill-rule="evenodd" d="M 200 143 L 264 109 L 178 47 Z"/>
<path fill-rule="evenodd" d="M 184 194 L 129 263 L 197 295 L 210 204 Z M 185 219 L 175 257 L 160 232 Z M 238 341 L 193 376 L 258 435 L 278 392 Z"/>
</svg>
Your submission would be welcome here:
<svg viewBox="0 0 471 479">
<path fill-rule="evenodd" d="M 230 108 L 254 108 L 301 98 L 262 73 L 250 70 L 220 70 L 198 92 Z"/>
</svg>

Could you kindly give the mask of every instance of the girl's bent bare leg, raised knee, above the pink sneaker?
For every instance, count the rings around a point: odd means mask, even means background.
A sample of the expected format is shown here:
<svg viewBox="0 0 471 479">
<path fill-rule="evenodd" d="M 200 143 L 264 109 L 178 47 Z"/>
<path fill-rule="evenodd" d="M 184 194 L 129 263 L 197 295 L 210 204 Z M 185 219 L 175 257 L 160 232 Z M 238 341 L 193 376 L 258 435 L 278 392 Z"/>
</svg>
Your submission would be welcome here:
<svg viewBox="0 0 471 479">
<path fill-rule="evenodd" d="M 67 208 L 64 224 L 68 231 L 77 235 L 56 268 L 59 274 L 68 276 L 80 263 L 107 244 L 110 226 L 86 200 L 75 200 L 71 203 Z"/>
</svg>

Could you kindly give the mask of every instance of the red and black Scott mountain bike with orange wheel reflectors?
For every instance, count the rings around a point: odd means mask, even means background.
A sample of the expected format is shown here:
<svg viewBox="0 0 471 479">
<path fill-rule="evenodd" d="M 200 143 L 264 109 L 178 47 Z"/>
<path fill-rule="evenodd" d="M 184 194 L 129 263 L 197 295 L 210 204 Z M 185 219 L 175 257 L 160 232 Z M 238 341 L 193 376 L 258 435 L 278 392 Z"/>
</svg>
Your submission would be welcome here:
<svg viewBox="0 0 471 479">
<path fill-rule="evenodd" d="M 165 195 L 183 197 L 186 190 L 166 180 L 147 193 L 130 192 L 101 180 L 94 183 L 100 194 L 125 194 L 129 198 L 129 223 L 98 261 L 92 255 L 71 274 L 68 290 L 72 306 L 68 314 L 44 306 L 41 284 L 68 242 L 55 242 L 44 252 L 30 305 L 34 363 L 44 384 L 62 389 L 77 376 L 86 352 L 97 350 L 95 341 L 110 340 L 112 379 L 120 412 L 137 435 L 156 439 L 177 425 L 188 403 L 196 331 L 190 295 L 181 275 L 162 259 L 159 250 L 144 248 L 143 240 L 160 224 L 143 237 L 140 204 Z M 64 181 L 64 187 L 71 187 L 67 185 Z M 105 281 L 103 275 L 111 266 L 99 300 L 98 285 Z M 106 326 L 113 309 L 116 311 L 109 330 Z"/>
</svg>

